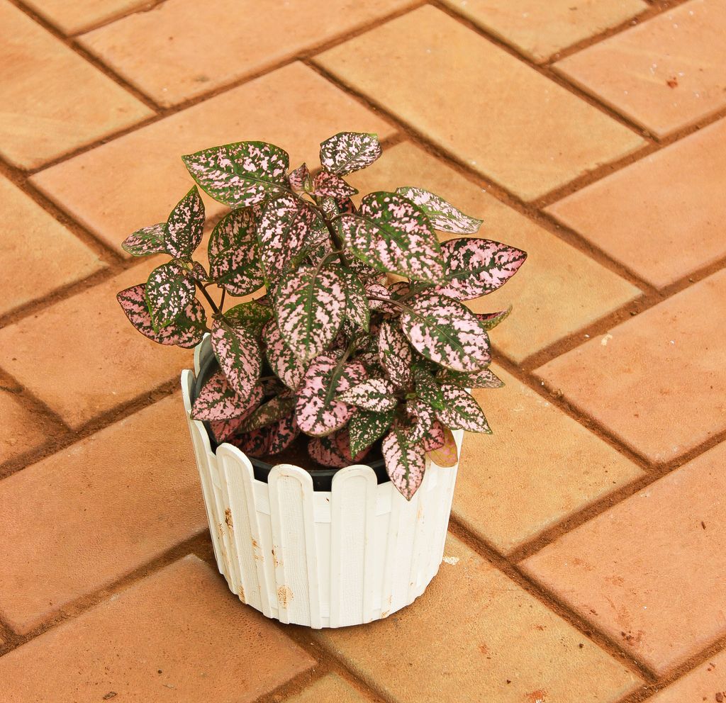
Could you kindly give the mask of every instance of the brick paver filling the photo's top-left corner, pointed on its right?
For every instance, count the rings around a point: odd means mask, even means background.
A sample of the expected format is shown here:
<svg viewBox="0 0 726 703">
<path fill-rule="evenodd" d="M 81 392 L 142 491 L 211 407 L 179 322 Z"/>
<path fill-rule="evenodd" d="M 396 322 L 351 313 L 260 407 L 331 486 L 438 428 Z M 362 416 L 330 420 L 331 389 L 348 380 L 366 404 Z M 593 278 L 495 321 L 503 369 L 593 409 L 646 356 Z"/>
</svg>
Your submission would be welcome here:
<svg viewBox="0 0 726 703">
<path fill-rule="evenodd" d="M 7 0 L 0 3 L 0 155 L 37 168 L 153 112 Z"/>
</svg>

